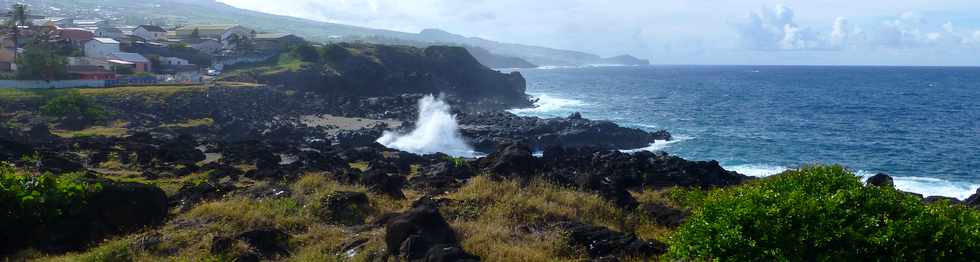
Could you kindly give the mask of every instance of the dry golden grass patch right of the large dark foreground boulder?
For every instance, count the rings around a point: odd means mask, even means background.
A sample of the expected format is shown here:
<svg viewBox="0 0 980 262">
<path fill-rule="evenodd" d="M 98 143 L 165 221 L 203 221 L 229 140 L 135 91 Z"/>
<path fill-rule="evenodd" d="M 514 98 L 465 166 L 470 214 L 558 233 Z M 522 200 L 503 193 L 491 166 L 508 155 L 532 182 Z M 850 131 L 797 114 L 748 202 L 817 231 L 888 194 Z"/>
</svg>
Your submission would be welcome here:
<svg viewBox="0 0 980 262">
<path fill-rule="evenodd" d="M 543 181 L 521 185 L 476 177 L 447 198 L 460 203 L 447 213 L 463 248 L 495 261 L 585 259 L 571 251 L 563 232 L 546 224 L 578 220 L 622 230 L 623 221 L 634 215 L 595 194 Z"/>
</svg>

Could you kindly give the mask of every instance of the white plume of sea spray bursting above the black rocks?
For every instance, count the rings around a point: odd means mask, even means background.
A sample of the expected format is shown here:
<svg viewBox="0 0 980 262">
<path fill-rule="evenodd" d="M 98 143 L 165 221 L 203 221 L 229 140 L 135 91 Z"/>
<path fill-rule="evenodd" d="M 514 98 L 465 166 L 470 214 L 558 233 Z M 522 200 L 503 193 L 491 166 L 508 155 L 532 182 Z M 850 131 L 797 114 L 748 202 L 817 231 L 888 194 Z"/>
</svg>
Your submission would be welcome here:
<svg viewBox="0 0 980 262">
<path fill-rule="evenodd" d="M 473 148 L 460 135 L 456 115 L 450 112 L 449 104 L 441 97 L 425 96 L 419 100 L 419 116 L 415 129 L 407 134 L 385 131 L 378 143 L 416 154 L 475 156 Z"/>
</svg>

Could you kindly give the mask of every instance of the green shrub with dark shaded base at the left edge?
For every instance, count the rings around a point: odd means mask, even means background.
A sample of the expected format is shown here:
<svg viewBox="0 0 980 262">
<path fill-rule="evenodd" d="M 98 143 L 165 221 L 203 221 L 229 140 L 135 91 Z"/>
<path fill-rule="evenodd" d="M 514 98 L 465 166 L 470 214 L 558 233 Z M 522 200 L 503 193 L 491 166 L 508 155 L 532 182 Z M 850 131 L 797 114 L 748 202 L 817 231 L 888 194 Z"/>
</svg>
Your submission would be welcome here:
<svg viewBox="0 0 980 262">
<path fill-rule="evenodd" d="M 86 199 L 102 189 L 78 175 L 24 174 L 0 163 L 0 224 L 41 224 L 83 208 Z"/>
</svg>

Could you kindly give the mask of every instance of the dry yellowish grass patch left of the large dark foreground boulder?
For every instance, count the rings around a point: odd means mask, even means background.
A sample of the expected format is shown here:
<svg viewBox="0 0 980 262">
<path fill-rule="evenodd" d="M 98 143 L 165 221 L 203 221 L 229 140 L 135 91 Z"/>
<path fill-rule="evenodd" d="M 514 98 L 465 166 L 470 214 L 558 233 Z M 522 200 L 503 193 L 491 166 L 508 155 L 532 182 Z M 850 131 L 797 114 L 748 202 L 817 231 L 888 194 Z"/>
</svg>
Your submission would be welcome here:
<svg viewBox="0 0 980 262">
<path fill-rule="evenodd" d="M 337 191 L 367 193 L 373 212 L 368 218 L 401 212 L 411 206 L 411 200 L 396 200 L 370 193 L 363 186 L 340 184 L 328 176 L 311 173 L 302 176 L 291 185 L 291 197 L 279 199 L 250 199 L 245 197 L 226 197 L 224 199 L 201 203 L 174 218 L 158 229 L 164 241 L 152 250 L 133 250 L 129 243 L 135 242 L 141 234 L 120 237 L 102 243 L 86 252 L 70 253 L 60 256 L 34 256 L 28 260 L 39 261 L 230 261 L 241 248 L 232 248 L 228 253 L 211 254 L 211 239 L 245 230 L 271 227 L 283 230 L 292 237 L 290 247 L 292 256 L 288 261 L 366 261 L 370 254 L 383 252 L 384 229 L 366 232 L 353 232 L 344 226 L 324 223 L 316 217 L 316 209 L 324 197 Z M 406 191 L 410 199 L 418 194 Z M 342 254 L 341 250 L 352 238 L 367 240 L 363 250 L 353 257 Z"/>
</svg>

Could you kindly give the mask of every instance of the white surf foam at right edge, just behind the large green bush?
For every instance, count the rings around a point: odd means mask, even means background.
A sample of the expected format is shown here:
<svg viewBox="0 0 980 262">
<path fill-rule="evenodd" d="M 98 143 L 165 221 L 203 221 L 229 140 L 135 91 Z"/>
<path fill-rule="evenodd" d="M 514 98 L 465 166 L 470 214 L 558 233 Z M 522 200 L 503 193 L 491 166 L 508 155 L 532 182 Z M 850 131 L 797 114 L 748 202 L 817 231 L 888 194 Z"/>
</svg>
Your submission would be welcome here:
<svg viewBox="0 0 980 262">
<path fill-rule="evenodd" d="M 856 174 L 867 181 L 874 172 L 857 171 Z M 944 196 L 966 199 L 977 192 L 980 185 L 968 182 L 954 182 L 931 177 L 892 177 L 898 190 L 922 194 L 923 196 Z"/>
</svg>

